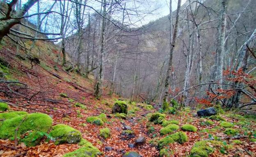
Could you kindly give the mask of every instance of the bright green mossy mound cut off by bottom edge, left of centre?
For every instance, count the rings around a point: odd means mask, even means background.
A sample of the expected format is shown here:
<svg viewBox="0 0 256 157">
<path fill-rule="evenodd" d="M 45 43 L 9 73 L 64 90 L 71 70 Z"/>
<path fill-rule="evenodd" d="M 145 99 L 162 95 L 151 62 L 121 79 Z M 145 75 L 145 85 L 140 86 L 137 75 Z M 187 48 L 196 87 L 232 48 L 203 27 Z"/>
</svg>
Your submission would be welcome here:
<svg viewBox="0 0 256 157">
<path fill-rule="evenodd" d="M 98 148 L 92 146 L 92 144 L 86 144 L 86 146 L 82 146 L 81 148 L 67 153 L 62 157 L 97 157 L 101 154 L 101 151 Z"/>
</svg>

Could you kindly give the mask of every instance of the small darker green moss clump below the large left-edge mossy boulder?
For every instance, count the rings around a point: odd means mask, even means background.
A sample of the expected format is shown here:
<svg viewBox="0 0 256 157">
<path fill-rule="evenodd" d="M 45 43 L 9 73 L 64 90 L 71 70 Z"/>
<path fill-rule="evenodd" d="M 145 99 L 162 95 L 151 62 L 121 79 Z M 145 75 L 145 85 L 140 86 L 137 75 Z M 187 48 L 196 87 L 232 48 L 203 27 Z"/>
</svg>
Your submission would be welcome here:
<svg viewBox="0 0 256 157">
<path fill-rule="evenodd" d="M 44 133 L 39 131 L 32 131 L 27 137 L 21 139 L 21 142 L 24 142 L 26 146 L 32 147 L 40 144 L 41 140 L 44 137 Z"/>
</svg>

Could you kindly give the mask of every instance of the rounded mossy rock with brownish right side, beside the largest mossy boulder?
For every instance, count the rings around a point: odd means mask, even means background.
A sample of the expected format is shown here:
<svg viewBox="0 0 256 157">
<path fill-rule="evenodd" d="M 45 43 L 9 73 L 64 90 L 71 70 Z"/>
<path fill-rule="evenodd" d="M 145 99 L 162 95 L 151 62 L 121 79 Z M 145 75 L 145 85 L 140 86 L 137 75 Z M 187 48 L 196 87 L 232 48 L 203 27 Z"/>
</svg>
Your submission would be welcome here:
<svg viewBox="0 0 256 157">
<path fill-rule="evenodd" d="M 55 141 L 55 144 L 78 143 L 82 138 L 80 131 L 65 124 L 57 124 L 53 126 L 50 136 L 53 138 L 53 141 Z"/>
</svg>

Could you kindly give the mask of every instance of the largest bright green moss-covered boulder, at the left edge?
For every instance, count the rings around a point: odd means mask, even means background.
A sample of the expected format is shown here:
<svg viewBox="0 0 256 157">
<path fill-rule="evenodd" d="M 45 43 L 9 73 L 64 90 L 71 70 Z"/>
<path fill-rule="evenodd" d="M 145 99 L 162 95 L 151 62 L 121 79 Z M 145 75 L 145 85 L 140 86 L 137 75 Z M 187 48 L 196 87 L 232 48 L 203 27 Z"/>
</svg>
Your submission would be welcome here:
<svg viewBox="0 0 256 157">
<path fill-rule="evenodd" d="M 18 128 L 17 137 L 29 130 L 47 133 L 52 124 L 53 120 L 43 113 L 32 113 L 6 119 L 0 127 L 0 139 L 14 139 L 16 128 Z"/>
</svg>

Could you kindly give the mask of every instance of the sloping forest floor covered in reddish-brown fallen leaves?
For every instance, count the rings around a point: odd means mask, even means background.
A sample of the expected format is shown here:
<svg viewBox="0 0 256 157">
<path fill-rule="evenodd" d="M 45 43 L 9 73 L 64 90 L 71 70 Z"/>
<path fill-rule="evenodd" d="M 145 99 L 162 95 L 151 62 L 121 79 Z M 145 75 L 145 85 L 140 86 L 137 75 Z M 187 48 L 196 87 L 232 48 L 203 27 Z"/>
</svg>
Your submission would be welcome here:
<svg viewBox="0 0 256 157">
<path fill-rule="evenodd" d="M 41 44 L 37 43 L 37 44 Z M 82 133 L 82 137 L 91 142 L 101 152 L 101 157 L 121 157 L 129 151 L 136 151 L 143 157 L 158 157 L 160 150 L 154 146 L 152 139 L 162 139 L 166 135 L 160 135 L 161 124 L 154 124 L 149 121 L 150 114 L 158 112 L 156 109 L 147 108 L 146 104 L 128 104 L 128 115 L 126 119 L 120 119 L 112 115 L 112 105 L 118 99 L 115 95 L 103 93 L 100 100 L 93 95 L 94 80 L 85 79 L 75 72 L 67 73 L 58 64 L 57 51 L 49 46 L 49 55 L 40 56 L 40 64 L 34 64 L 16 54 L 14 46 L 2 46 L 0 58 L 8 63 L 9 77 L 18 82 L 26 84 L 27 88 L 21 85 L 1 84 L 0 100 L 8 102 L 10 110 L 27 111 L 28 113 L 47 113 L 53 118 L 53 125 L 67 124 Z M 39 45 L 40 46 L 40 45 Z M 33 66 L 31 66 L 33 65 Z M 11 84 L 9 84 L 11 85 Z M 107 91 L 107 89 L 105 89 Z M 61 97 L 60 93 L 66 93 Z M 86 108 L 77 107 L 74 104 L 79 102 Z M 129 112 L 134 111 L 134 113 Z M 103 126 L 87 123 L 86 118 L 101 113 L 107 115 L 107 122 Z M 192 124 L 197 131 L 184 131 L 188 141 L 183 144 L 174 142 L 166 148 L 173 151 L 174 157 L 188 157 L 195 142 L 205 139 L 214 139 L 220 142 L 219 146 L 212 146 L 214 152 L 210 157 L 254 157 L 256 156 L 256 142 L 250 137 L 255 135 L 256 120 L 250 117 L 242 117 L 231 112 L 219 115 L 232 124 L 232 128 L 238 130 L 234 135 L 226 135 L 226 128 L 220 126 L 222 121 L 212 119 L 213 124 L 207 124 L 208 118 L 196 116 L 196 110 L 188 108 L 181 109 L 176 114 L 166 113 L 165 119 L 177 120 L 181 130 L 183 124 Z M 239 123 L 242 122 L 242 123 Z M 123 126 L 131 126 L 134 134 L 123 135 Z M 111 136 L 104 139 L 99 136 L 99 130 L 110 128 Z M 142 145 L 130 148 L 128 144 L 135 143 L 138 137 L 145 137 L 146 142 Z M 150 144 L 151 143 L 151 144 Z M 209 144 L 210 145 L 210 144 Z M 210 145 L 211 146 L 211 145 Z M 80 146 L 78 144 L 60 144 L 54 142 L 41 142 L 40 145 L 27 147 L 19 143 L 15 148 L 15 141 L 0 139 L 1 157 L 62 157 L 65 153 L 74 151 Z M 106 150 L 106 147 L 112 147 Z M 166 155 L 167 156 L 167 155 Z M 203 157 L 203 156 L 202 156 Z"/>
</svg>

